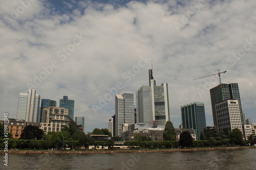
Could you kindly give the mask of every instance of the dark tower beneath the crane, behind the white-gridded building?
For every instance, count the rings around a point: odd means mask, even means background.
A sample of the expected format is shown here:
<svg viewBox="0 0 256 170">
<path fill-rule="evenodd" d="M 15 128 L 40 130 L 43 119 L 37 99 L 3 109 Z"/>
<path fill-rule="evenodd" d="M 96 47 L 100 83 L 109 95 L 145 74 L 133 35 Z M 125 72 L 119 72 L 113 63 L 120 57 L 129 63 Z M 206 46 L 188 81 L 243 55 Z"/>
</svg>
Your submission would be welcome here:
<svg viewBox="0 0 256 170">
<path fill-rule="evenodd" d="M 245 122 L 245 116 L 242 112 L 242 104 L 240 99 L 238 83 L 222 84 L 222 89 L 221 89 L 221 85 L 218 85 L 210 89 L 210 99 L 211 99 L 212 117 L 214 118 L 214 126 L 216 128 L 218 127 L 218 122 L 217 122 L 215 105 L 227 99 L 238 100 L 240 117 L 242 121 L 243 132 L 244 132 L 244 125 L 246 124 L 246 122 Z"/>
</svg>

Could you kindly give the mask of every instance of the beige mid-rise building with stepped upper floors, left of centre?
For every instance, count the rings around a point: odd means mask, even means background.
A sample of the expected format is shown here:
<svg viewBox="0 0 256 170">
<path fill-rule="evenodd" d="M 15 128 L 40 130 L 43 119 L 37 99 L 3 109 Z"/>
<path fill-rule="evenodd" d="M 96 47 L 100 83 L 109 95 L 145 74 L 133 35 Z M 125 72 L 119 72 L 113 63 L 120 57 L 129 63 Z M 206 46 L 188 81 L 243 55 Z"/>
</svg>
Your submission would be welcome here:
<svg viewBox="0 0 256 170">
<path fill-rule="evenodd" d="M 77 129 L 75 121 L 69 117 L 68 109 L 60 107 L 48 107 L 42 110 L 41 129 L 45 133 L 61 132 L 64 126 L 69 123 L 74 125 Z"/>
</svg>

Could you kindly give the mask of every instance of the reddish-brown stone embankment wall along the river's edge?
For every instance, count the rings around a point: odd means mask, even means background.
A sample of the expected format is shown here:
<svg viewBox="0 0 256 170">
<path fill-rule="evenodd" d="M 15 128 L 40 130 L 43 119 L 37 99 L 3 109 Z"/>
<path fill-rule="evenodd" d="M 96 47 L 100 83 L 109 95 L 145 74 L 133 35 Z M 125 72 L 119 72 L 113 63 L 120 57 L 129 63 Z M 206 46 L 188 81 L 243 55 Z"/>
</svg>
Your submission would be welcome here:
<svg viewBox="0 0 256 170">
<path fill-rule="evenodd" d="M 219 147 L 219 148 L 189 148 L 189 149 L 161 149 L 161 150 L 115 150 L 115 151 L 33 151 L 21 150 L 13 151 L 8 150 L 8 154 L 114 154 L 114 153 L 153 153 L 153 152 L 187 152 L 187 151 L 210 151 L 210 150 L 233 150 L 233 149 L 256 149 L 256 147 Z M 0 154 L 6 152 L 0 151 Z"/>
</svg>

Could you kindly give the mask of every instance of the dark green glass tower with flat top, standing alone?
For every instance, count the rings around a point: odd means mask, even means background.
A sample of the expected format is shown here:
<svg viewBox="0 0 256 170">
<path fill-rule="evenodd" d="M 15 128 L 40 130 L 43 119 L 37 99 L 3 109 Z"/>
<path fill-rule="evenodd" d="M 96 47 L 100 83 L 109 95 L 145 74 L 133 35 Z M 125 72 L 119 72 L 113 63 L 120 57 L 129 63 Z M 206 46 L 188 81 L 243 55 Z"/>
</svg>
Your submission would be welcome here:
<svg viewBox="0 0 256 170">
<path fill-rule="evenodd" d="M 199 139 L 206 127 L 204 104 L 194 102 L 181 106 L 181 122 L 184 129 L 194 129 Z"/>
</svg>

